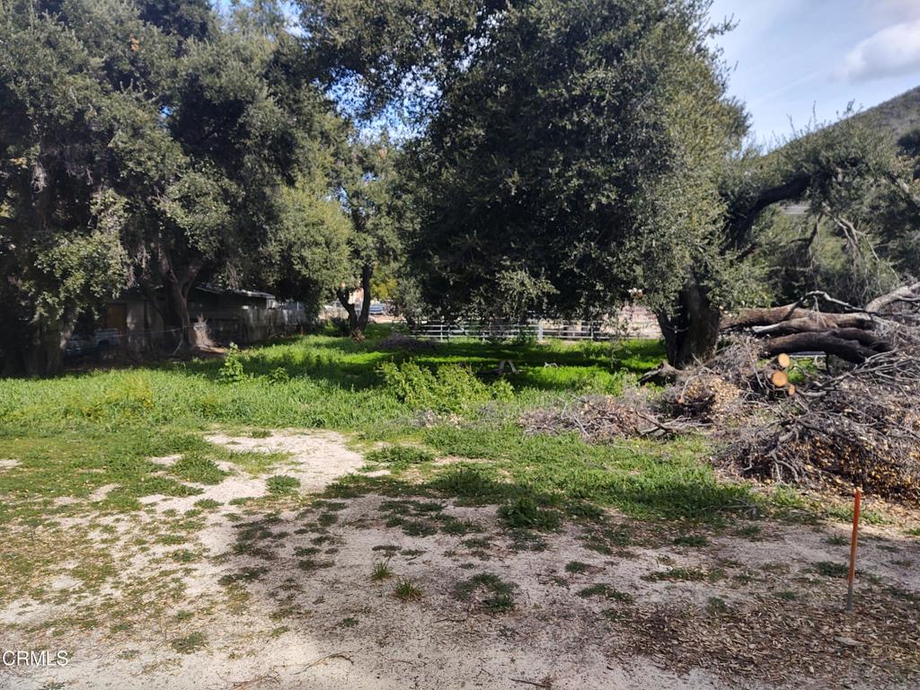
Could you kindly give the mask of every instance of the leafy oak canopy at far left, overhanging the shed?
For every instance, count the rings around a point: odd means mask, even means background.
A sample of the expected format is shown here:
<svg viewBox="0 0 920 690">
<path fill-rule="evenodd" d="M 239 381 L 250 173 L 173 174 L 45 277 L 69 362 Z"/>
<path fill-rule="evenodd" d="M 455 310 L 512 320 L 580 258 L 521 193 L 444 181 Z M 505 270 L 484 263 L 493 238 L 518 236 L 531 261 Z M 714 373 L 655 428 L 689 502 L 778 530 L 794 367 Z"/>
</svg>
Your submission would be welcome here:
<svg viewBox="0 0 920 690">
<path fill-rule="evenodd" d="M 192 282 L 250 269 L 326 109 L 273 16 L 220 20 L 201 0 L 3 0 L 6 367 L 52 371 L 68 324 L 129 284 L 129 268 L 166 288 L 167 319 L 194 344 Z"/>
</svg>

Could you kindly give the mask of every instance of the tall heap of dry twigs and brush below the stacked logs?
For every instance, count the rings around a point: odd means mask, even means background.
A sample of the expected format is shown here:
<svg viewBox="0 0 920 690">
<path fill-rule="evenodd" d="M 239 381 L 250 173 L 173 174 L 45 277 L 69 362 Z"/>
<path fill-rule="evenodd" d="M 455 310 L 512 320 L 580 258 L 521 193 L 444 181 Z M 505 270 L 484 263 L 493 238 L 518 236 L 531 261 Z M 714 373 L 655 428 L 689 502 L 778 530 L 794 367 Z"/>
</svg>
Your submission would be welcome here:
<svg viewBox="0 0 920 690">
<path fill-rule="evenodd" d="M 718 462 L 742 477 L 815 488 L 854 486 L 920 503 L 920 358 L 880 353 L 818 382 L 748 430 Z"/>
</svg>

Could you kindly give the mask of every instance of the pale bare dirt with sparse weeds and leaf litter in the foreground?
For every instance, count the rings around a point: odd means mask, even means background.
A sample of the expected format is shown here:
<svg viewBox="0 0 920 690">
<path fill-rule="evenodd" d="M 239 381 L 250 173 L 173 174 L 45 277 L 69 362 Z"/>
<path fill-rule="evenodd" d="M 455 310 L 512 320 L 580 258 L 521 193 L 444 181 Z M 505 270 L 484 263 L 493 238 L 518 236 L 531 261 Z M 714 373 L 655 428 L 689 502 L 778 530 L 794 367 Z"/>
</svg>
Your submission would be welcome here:
<svg viewBox="0 0 920 690">
<path fill-rule="evenodd" d="M 272 473 L 299 478 L 304 495 L 271 500 L 264 477 L 236 470 L 141 512 L 17 527 L 8 538 L 57 556 L 0 603 L 2 646 L 67 650 L 70 661 L 0 666 L 0 688 L 920 683 L 920 541 L 892 528 L 867 526 L 847 615 L 843 524 L 716 531 L 611 512 L 521 534 L 495 506 L 311 499 L 362 465 L 337 434 L 210 440 L 289 453 Z M 202 499 L 215 505 L 196 509 Z M 374 581 L 381 563 L 389 577 Z M 399 599 L 406 581 L 417 596 Z"/>
</svg>

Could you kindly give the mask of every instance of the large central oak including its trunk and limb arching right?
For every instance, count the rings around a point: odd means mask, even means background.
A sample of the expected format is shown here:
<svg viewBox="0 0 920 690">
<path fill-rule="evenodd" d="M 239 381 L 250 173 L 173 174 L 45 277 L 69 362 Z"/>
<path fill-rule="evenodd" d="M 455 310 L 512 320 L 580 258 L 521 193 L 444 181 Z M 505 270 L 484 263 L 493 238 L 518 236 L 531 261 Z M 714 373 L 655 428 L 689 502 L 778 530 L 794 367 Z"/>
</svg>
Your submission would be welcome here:
<svg viewBox="0 0 920 690">
<path fill-rule="evenodd" d="M 422 105 L 410 247 L 448 312 L 591 316 L 640 291 L 672 362 L 705 359 L 721 310 L 765 296 L 778 205 L 847 228 L 901 175 L 856 121 L 743 149 L 705 0 L 305 5 L 331 80 Z"/>
</svg>

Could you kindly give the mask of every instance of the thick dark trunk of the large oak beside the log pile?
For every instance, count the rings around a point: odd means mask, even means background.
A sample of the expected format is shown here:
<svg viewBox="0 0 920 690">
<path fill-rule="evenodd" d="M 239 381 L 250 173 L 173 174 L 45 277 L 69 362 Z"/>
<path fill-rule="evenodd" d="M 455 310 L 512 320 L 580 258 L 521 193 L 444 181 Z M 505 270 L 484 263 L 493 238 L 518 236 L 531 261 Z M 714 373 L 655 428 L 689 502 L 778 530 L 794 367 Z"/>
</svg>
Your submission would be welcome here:
<svg viewBox="0 0 920 690">
<path fill-rule="evenodd" d="M 719 344 L 719 308 L 709 301 L 706 288 L 690 279 L 677 295 L 673 314 L 659 313 L 658 324 L 668 362 L 678 369 L 706 362 Z"/>
</svg>

